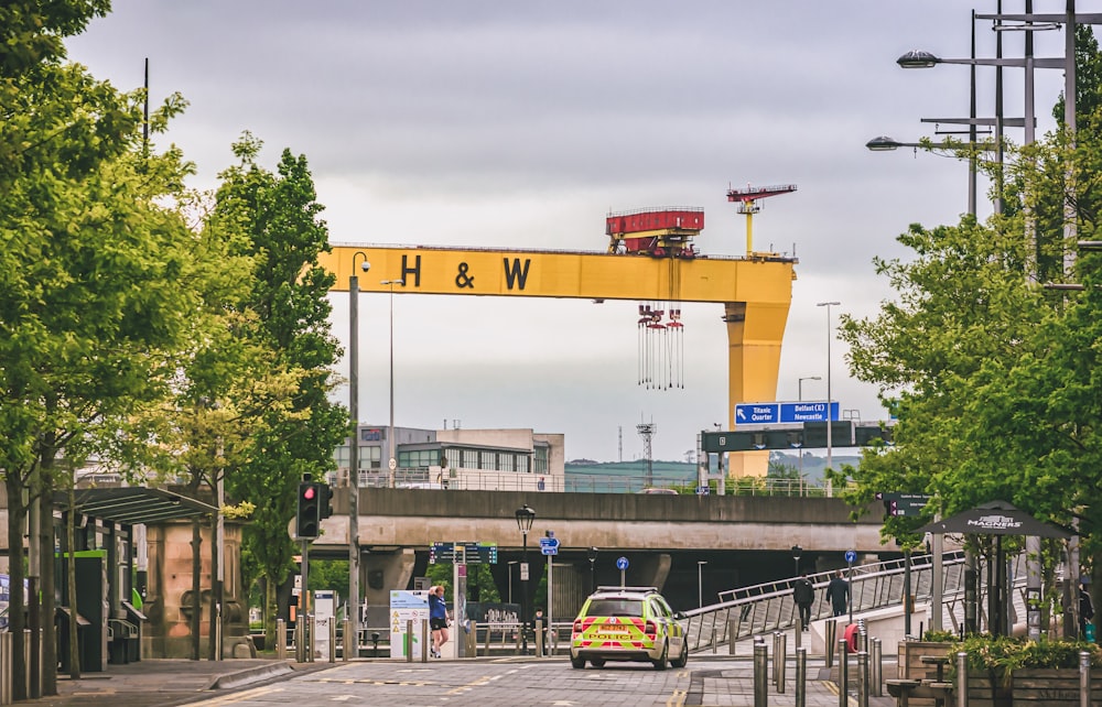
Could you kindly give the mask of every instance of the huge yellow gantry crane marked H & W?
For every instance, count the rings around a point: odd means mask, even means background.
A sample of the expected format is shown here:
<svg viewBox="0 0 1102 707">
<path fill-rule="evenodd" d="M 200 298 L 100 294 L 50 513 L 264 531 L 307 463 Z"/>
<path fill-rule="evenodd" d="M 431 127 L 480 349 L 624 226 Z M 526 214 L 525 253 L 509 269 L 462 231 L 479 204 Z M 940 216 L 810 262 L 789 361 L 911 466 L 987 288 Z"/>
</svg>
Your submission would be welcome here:
<svg viewBox="0 0 1102 707">
<path fill-rule="evenodd" d="M 737 403 L 776 398 L 780 346 L 798 261 L 761 252 L 745 258 L 704 257 L 692 249 L 691 242 L 687 243 L 683 230 L 679 222 L 672 237 L 678 248 L 669 247 L 671 238 L 662 237 L 661 226 L 653 228 L 650 224 L 637 232 L 652 237 L 653 249 L 613 247 L 611 252 L 563 252 L 347 244 L 334 246 L 320 261 L 336 275 L 333 290 L 339 292 L 348 291 L 350 275 L 361 274 L 355 269 L 366 258 L 372 272 L 401 281 L 395 285 L 396 294 L 722 304 L 728 349 L 727 421 L 733 429 Z M 359 287 L 363 292 L 389 293 L 391 285 L 371 278 L 360 279 Z M 768 454 L 730 455 L 728 475 L 765 476 Z"/>
</svg>

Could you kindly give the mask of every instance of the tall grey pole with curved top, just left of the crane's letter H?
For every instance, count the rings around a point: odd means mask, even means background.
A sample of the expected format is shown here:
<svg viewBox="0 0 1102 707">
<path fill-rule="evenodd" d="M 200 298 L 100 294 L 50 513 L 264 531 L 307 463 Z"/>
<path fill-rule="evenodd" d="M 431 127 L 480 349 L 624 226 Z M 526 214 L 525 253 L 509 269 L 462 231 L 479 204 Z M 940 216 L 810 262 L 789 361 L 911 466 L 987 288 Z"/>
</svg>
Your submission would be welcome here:
<svg viewBox="0 0 1102 707">
<path fill-rule="evenodd" d="M 360 270 L 371 269 L 367 255 L 356 251 L 352 255 L 352 274 L 348 275 L 348 417 L 352 422 L 348 445 L 348 632 L 352 634 L 352 656 L 359 657 L 359 278 Z M 345 653 L 349 637 L 345 637 Z"/>
</svg>

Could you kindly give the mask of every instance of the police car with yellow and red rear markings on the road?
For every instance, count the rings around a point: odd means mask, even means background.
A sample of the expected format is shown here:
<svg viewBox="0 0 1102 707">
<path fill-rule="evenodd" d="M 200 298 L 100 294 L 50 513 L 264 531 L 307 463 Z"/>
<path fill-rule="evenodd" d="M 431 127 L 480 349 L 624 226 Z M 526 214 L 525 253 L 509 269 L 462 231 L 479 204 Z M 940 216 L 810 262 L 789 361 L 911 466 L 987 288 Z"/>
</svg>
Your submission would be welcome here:
<svg viewBox="0 0 1102 707">
<path fill-rule="evenodd" d="M 655 587 L 597 587 L 582 605 L 570 637 L 570 664 L 647 661 L 655 670 L 684 667 L 689 642 L 678 616 Z"/>
</svg>

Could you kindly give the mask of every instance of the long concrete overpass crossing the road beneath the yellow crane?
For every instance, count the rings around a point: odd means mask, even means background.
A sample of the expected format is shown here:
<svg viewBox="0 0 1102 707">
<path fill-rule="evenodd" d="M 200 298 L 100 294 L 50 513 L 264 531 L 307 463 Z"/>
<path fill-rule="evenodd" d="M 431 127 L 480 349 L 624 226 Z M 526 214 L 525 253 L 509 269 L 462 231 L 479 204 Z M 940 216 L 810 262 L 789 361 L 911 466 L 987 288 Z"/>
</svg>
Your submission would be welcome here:
<svg viewBox="0 0 1102 707">
<path fill-rule="evenodd" d="M 588 591 L 591 546 L 601 551 L 593 567 L 597 584 L 619 583 L 615 559 L 623 555 L 630 563 L 627 584 L 662 587 L 684 608 L 696 605 L 698 594 L 714 597 L 791 576 L 793 545 L 803 548 L 800 566 L 808 572 L 844 566 L 846 550 L 856 550 L 858 562 L 898 555 L 880 544 L 878 503 L 854 522 L 850 507 L 825 498 L 359 489 L 366 603 L 387 603 L 389 589 L 423 574 L 434 542 L 497 543 L 493 569 L 505 597 L 509 563 L 521 558 L 515 513 L 526 503 L 537 513 L 528 539 L 530 584 L 539 583 L 545 564 L 539 539 L 551 530 L 560 542 L 555 602 L 564 609 Z M 314 556 L 348 556 L 347 489 L 335 489 L 334 508 L 312 545 Z M 698 563 L 706 563 L 706 580 Z M 566 595 L 561 605 L 560 592 Z"/>
</svg>

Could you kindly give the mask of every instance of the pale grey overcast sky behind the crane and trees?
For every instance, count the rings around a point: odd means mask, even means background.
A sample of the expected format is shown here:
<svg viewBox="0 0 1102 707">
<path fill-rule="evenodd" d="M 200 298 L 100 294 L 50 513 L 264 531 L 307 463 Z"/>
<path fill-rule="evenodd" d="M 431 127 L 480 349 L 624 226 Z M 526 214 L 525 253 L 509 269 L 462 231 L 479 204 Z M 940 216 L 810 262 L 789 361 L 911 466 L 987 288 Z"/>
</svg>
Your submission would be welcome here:
<svg viewBox="0 0 1102 707">
<path fill-rule="evenodd" d="M 954 222 L 966 209 L 964 163 L 864 143 L 917 141 L 933 135 L 920 118 L 968 115 L 966 67 L 904 70 L 895 59 L 914 48 L 966 57 L 972 9 L 995 11 L 994 0 L 114 4 L 68 43 L 71 58 L 129 90 L 149 57 L 152 99 L 180 91 L 191 102 L 161 146 L 184 150 L 198 187 L 214 186 L 245 130 L 264 141 L 270 167 L 283 148 L 305 154 L 334 244 L 602 250 L 609 210 L 684 205 L 705 209 L 700 251 L 741 255 L 745 217 L 727 188 L 797 184 L 754 220 L 757 249 L 800 261 L 782 401 L 813 376 L 803 398 L 827 396 L 817 303 L 842 303 L 832 324 L 874 314 L 892 293 L 872 258 L 906 255 L 895 237 L 908 224 Z M 977 54 L 993 56 L 990 22 L 976 26 Z M 1022 44 L 1006 33 L 1004 54 L 1020 56 Z M 1037 34 L 1037 56 L 1061 54 L 1062 32 Z M 981 116 L 993 115 L 993 72 L 980 70 Z M 1006 115 L 1020 116 L 1022 70 L 1005 80 Z M 1037 73 L 1038 134 L 1061 86 L 1060 72 Z M 981 193 L 981 217 L 990 210 Z M 333 302 L 346 341 L 347 295 Z M 685 384 L 671 391 L 637 385 L 635 303 L 396 296 L 393 309 L 398 425 L 532 427 L 565 434 L 568 459 L 611 461 L 642 454 L 641 421 L 658 427 L 655 458 L 683 459 L 698 432 L 728 417 L 720 305 L 683 307 Z M 387 314 L 386 295 L 364 295 L 360 416 L 372 424 L 389 416 Z M 833 398 L 883 417 L 845 354 L 835 340 Z"/>
</svg>

